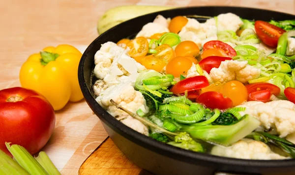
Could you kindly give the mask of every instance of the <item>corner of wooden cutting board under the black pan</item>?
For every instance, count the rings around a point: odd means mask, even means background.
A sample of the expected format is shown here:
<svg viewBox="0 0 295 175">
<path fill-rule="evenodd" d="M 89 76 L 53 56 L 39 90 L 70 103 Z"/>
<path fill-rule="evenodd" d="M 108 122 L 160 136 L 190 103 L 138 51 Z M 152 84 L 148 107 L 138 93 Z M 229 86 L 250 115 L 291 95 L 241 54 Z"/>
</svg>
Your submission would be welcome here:
<svg viewBox="0 0 295 175">
<path fill-rule="evenodd" d="M 84 161 L 79 175 L 151 175 L 139 168 L 108 137 Z"/>
</svg>

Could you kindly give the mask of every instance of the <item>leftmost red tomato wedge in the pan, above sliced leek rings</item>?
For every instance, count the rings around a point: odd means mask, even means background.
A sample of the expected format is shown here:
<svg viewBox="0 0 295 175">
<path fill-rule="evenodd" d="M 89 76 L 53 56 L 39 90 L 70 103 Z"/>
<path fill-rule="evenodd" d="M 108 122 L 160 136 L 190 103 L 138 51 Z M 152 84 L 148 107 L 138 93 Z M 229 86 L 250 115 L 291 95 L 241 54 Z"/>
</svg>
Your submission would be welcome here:
<svg viewBox="0 0 295 175">
<path fill-rule="evenodd" d="M 170 91 L 174 94 L 182 94 L 185 91 L 193 91 L 205 88 L 209 85 L 209 82 L 205 76 L 193 76 L 178 81 Z"/>
</svg>

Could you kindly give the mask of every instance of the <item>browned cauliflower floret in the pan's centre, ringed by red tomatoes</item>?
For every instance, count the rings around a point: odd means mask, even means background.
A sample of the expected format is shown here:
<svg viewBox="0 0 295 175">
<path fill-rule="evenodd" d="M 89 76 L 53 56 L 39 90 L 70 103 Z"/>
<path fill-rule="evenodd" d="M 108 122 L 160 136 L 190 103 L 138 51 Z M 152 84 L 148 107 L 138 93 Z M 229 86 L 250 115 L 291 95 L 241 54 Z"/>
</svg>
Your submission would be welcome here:
<svg viewBox="0 0 295 175">
<path fill-rule="evenodd" d="M 225 83 L 238 80 L 246 83 L 251 79 L 258 78 L 260 70 L 248 65 L 247 61 L 226 60 L 221 62 L 219 68 L 212 68 L 210 76 L 214 82 Z"/>
</svg>

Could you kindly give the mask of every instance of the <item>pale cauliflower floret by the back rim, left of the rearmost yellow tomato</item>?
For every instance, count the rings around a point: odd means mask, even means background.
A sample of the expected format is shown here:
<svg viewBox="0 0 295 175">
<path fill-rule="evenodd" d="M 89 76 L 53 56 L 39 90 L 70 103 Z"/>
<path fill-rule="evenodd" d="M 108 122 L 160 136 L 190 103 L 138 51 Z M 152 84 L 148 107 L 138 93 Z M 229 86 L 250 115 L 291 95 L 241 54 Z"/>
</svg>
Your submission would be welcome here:
<svg viewBox="0 0 295 175">
<path fill-rule="evenodd" d="M 154 35 L 157 33 L 164 33 L 164 32 L 169 32 L 169 29 L 158 23 L 148 23 L 144 25 L 144 27 L 136 35 L 136 37 L 139 37 L 139 36 L 149 37 L 151 35 Z"/>
</svg>

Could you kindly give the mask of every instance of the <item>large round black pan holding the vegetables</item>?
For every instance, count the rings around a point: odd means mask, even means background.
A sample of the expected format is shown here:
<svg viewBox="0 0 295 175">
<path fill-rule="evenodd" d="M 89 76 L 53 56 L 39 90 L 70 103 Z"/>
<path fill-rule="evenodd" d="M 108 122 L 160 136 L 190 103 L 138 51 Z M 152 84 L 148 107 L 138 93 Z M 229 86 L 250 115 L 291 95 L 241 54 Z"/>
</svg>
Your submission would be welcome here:
<svg viewBox="0 0 295 175">
<path fill-rule="evenodd" d="M 263 175 L 295 174 L 295 159 L 290 160 L 242 160 L 218 157 L 180 149 L 144 136 L 125 126 L 98 103 L 96 103 L 91 86 L 94 68 L 94 54 L 101 44 L 107 41 L 118 42 L 126 37 L 135 36 L 142 27 L 161 14 L 173 18 L 177 15 L 217 16 L 232 12 L 244 19 L 287 20 L 294 15 L 255 8 L 203 6 L 165 10 L 140 16 L 113 27 L 98 36 L 86 49 L 79 65 L 78 77 L 83 95 L 94 113 L 102 121 L 107 133 L 118 148 L 139 167 L 161 175 L 212 175 L 215 172 L 251 173 Z M 123 14 L 122 14 L 123 15 Z M 202 19 L 200 19 L 202 20 Z M 205 21 L 203 19 L 203 21 Z M 293 173 L 294 172 L 294 173 Z"/>
</svg>

